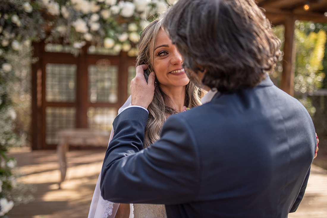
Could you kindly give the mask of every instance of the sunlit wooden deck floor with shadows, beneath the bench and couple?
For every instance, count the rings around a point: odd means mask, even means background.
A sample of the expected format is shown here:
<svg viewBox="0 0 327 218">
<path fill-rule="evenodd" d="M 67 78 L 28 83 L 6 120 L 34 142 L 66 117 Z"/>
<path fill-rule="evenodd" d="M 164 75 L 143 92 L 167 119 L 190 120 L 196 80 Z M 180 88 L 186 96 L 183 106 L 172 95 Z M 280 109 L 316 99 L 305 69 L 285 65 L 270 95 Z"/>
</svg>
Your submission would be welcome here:
<svg viewBox="0 0 327 218">
<path fill-rule="evenodd" d="M 55 151 L 16 149 L 10 156 L 25 174 L 22 181 L 34 184 L 35 200 L 14 206 L 11 218 L 87 218 L 105 150 L 68 152 L 66 180 L 58 189 L 60 173 Z M 290 218 L 327 218 L 327 170 L 312 165 L 308 187 L 299 209 Z"/>
</svg>

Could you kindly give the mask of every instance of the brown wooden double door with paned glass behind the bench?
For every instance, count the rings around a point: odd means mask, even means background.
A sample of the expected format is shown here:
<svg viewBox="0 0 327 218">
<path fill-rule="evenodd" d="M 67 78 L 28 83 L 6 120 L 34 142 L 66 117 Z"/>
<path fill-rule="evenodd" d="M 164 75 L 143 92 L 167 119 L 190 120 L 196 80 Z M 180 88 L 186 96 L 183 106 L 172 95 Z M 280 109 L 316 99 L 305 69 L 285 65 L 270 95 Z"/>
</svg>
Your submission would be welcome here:
<svg viewBox="0 0 327 218">
<path fill-rule="evenodd" d="M 34 43 L 32 65 L 32 149 L 55 149 L 57 131 L 111 131 L 129 96 L 135 57 L 84 46 L 78 54 L 63 45 Z"/>
</svg>

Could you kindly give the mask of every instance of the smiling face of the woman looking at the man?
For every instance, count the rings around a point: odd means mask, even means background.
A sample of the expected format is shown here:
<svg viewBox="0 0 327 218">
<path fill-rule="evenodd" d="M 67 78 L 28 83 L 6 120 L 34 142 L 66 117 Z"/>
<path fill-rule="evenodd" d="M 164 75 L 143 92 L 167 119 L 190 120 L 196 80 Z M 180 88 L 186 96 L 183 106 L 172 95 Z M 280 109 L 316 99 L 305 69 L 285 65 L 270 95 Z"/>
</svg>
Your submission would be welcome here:
<svg viewBox="0 0 327 218">
<path fill-rule="evenodd" d="M 190 81 L 182 68 L 182 57 L 167 34 L 160 29 L 154 45 L 153 70 L 161 89 L 185 86 Z"/>
</svg>

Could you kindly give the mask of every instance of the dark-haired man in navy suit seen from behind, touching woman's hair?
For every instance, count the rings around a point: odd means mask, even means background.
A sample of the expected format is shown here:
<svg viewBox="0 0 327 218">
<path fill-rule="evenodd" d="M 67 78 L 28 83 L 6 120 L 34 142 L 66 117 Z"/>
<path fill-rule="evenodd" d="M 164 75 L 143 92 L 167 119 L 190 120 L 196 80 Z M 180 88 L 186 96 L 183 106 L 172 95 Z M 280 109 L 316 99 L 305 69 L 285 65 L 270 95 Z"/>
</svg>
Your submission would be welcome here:
<svg viewBox="0 0 327 218">
<path fill-rule="evenodd" d="M 303 197 L 316 137 L 306 109 L 269 79 L 280 41 L 264 13 L 253 0 L 179 0 L 163 28 L 190 79 L 218 92 L 169 117 L 143 149 L 154 74 L 147 84 L 137 67 L 134 107 L 113 123 L 102 196 L 165 204 L 168 217 L 287 217 Z"/>
</svg>

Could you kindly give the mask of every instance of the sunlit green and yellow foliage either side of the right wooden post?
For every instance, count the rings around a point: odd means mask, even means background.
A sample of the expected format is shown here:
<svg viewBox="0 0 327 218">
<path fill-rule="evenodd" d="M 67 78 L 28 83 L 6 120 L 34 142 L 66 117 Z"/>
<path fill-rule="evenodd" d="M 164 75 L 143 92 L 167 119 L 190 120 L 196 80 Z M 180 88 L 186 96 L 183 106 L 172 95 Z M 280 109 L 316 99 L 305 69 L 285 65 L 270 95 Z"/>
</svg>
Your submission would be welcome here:
<svg viewBox="0 0 327 218">
<path fill-rule="evenodd" d="M 273 28 L 275 34 L 284 43 L 284 26 Z M 307 93 L 327 87 L 327 49 L 325 49 L 327 26 L 307 21 L 295 22 L 295 78 L 294 91 L 296 97 L 305 106 L 311 116 L 316 108 Z M 281 47 L 283 51 L 283 46 Z M 282 53 L 284 54 L 284 53 Z M 277 64 L 276 72 L 271 77 L 276 85 L 280 85 L 283 67 L 281 61 Z M 324 85 L 325 84 L 325 85 Z M 301 94 L 303 93 L 303 94 Z"/>
</svg>

